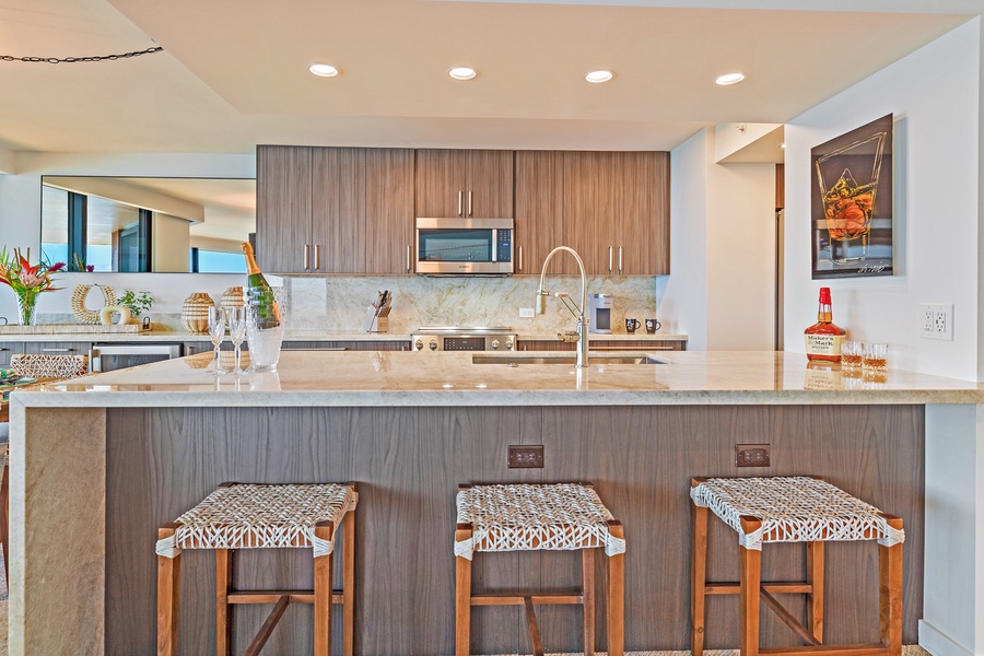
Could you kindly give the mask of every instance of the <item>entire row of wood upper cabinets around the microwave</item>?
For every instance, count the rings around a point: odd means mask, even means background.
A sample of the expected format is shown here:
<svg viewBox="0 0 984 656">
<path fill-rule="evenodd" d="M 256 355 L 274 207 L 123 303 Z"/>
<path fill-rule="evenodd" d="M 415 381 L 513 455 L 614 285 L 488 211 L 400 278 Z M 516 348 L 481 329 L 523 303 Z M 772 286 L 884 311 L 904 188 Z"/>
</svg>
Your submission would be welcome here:
<svg viewBox="0 0 984 656">
<path fill-rule="evenodd" d="M 539 273 L 559 245 L 588 273 L 668 273 L 669 154 L 257 149 L 265 270 L 412 273 L 415 216 L 515 218 L 516 273 Z"/>
</svg>

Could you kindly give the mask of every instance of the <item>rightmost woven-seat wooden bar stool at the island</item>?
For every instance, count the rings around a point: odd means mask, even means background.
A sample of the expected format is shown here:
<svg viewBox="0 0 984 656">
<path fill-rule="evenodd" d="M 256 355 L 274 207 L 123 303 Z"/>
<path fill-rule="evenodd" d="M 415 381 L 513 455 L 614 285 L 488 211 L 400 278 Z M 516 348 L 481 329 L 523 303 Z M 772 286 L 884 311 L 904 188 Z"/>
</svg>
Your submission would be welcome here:
<svg viewBox="0 0 984 656">
<path fill-rule="evenodd" d="M 706 595 L 740 595 L 739 647 L 741 656 L 796 655 L 899 656 L 902 653 L 902 519 L 881 513 L 843 490 L 811 477 L 695 478 L 693 500 L 693 572 L 691 595 L 693 656 L 704 651 Z M 708 511 L 738 532 L 738 583 L 708 583 Z M 823 548 L 829 541 L 878 541 L 881 642 L 860 645 L 823 644 Z M 805 542 L 806 581 L 763 583 L 762 544 Z M 807 596 L 807 621 L 799 622 L 775 598 L 776 594 Z M 775 611 L 806 646 L 760 648 L 760 602 Z"/>
</svg>

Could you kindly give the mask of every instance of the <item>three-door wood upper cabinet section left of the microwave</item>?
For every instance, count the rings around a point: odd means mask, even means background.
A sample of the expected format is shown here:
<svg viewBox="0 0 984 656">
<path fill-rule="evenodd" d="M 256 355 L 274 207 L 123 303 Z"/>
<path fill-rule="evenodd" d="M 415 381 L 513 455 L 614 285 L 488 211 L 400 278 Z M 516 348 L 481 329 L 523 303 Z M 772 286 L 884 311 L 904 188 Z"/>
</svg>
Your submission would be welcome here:
<svg viewBox="0 0 984 656">
<path fill-rule="evenodd" d="M 257 149 L 257 261 L 271 273 L 407 273 L 413 151 Z"/>
</svg>

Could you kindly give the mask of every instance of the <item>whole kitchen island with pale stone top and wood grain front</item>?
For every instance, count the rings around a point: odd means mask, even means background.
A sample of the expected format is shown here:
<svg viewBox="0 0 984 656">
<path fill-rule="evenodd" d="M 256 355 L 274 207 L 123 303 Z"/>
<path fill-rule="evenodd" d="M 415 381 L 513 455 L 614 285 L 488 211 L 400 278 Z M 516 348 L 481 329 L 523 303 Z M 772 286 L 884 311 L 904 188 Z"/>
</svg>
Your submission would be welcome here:
<svg viewBox="0 0 984 656">
<path fill-rule="evenodd" d="M 973 651 L 982 609 L 971 573 L 984 550 L 979 504 L 964 491 L 980 478 L 977 384 L 900 371 L 866 383 L 771 352 L 654 360 L 663 363 L 575 370 L 475 364 L 469 353 L 289 351 L 277 372 L 216 378 L 206 354 L 16 393 L 10 653 L 152 654 L 156 527 L 230 480 L 359 484 L 363 654 L 453 652 L 459 482 L 590 480 L 625 525 L 626 649 L 686 649 L 690 477 L 792 473 L 901 515 L 904 641 Z M 507 469 L 511 444 L 542 444 L 544 468 Z M 770 467 L 736 469 L 736 444 L 768 444 Z M 712 578 L 734 578 L 736 536 L 711 538 Z M 795 547 L 771 553 L 766 575 L 800 574 Z M 213 651 L 209 555 L 185 557 L 183 654 Z M 877 640 L 874 546 L 834 544 L 828 559 L 825 637 Z M 476 562 L 473 581 L 565 589 L 578 562 L 494 554 Z M 311 558 L 250 553 L 237 572 L 243 585 L 306 587 Z M 236 609 L 237 648 L 265 612 Z M 540 612 L 550 651 L 579 649 L 577 609 Z M 736 646 L 736 620 L 737 599 L 712 599 L 708 646 Z M 309 609 L 284 622 L 268 653 L 305 653 Z M 789 644 L 776 624 L 764 620 L 766 644 Z M 481 609 L 472 631 L 475 653 L 529 652 L 518 608 Z"/>
</svg>

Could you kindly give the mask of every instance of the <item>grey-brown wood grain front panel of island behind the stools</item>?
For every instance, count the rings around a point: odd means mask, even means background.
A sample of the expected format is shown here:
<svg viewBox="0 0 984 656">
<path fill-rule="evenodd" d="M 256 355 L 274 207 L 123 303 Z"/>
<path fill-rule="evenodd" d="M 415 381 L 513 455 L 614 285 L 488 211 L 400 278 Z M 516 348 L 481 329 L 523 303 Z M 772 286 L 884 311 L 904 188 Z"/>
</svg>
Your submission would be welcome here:
<svg viewBox="0 0 984 656">
<path fill-rule="evenodd" d="M 905 520 L 904 640 L 922 616 L 922 407 L 276 408 L 107 410 L 107 648 L 153 654 L 153 539 L 219 482 L 354 480 L 360 488 L 356 653 L 448 654 L 454 648 L 454 495 L 459 482 L 589 480 L 625 525 L 626 649 L 689 647 L 691 476 L 823 476 Z M 768 443 L 772 467 L 736 469 L 735 444 Z M 509 443 L 543 444 L 541 470 L 509 470 Z M 711 526 L 711 578 L 737 574 L 737 537 Z M 828 547 L 827 636 L 877 639 L 872 543 Z M 283 558 L 286 555 L 286 558 Z M 183 557 L 181 654 L 213 651 L 212 574 Z M 598 585 L 606 582 L 597 559 Z M 796 546 L 768 546 L 763 574 L 804 572 Z M 308 585 L 309 553 L 244 554 L 243 585 Z M 567 552 L 479 554 L 477 589 L 579 585 Z M 340 573 L 337 573 L 340 575 Z M 737 645 L 737 599 L 708 599 L 708 648 Z M 801 612 L 801 604 L 793 604 Z M 265 609 L 236 609 L 237 649 Z M 606 644 L 604 595 L 597 633 Z M 540 608 L 550 652 L 581 651 L 578 607 Z M 528 653 L 522 610 L 473 611 L 473 653 Z M 265 654 L 308 653 L 311 611 L 291 608 Z M 335 625 L 340 640 L 340 624 Z M 765 646 L 789 644 L 763 616 Z M 340 643 L 336 645 L 338 648 Z"/>
</svg>

